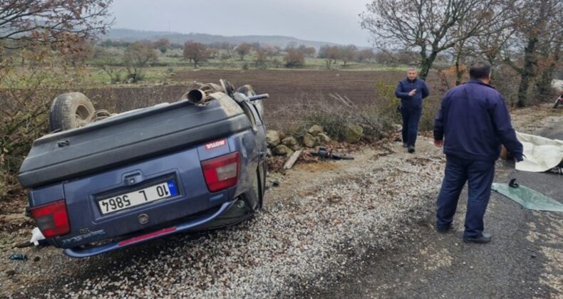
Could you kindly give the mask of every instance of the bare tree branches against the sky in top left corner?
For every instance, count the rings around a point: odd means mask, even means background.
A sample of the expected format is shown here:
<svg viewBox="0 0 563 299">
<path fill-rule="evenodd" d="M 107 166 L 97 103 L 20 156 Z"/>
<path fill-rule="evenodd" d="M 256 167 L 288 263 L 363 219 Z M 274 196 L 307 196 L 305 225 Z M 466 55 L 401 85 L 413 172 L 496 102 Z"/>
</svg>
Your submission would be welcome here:
<svg viewBox="0 0 563 299">
<path fill-rule="evenodd" d="M 0 1 L 0 49 L 88 40 L 105 33 L 112 0 Z"/>
</svg>

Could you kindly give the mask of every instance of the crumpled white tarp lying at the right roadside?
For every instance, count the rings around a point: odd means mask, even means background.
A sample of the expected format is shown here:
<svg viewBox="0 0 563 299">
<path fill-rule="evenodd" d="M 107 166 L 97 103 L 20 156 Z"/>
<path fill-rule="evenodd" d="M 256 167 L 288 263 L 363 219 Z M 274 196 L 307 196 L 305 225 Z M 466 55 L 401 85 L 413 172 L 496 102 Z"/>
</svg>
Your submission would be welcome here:
<svg viewBox="0 0 563 299">
<path fill-rule="evenodd" d="M 516 163 L 516 169 L 525 172 L 546 172 L 563 160 L 563 141 L 516 132 L 524 145 L 524 161 Z"/>
</svg>

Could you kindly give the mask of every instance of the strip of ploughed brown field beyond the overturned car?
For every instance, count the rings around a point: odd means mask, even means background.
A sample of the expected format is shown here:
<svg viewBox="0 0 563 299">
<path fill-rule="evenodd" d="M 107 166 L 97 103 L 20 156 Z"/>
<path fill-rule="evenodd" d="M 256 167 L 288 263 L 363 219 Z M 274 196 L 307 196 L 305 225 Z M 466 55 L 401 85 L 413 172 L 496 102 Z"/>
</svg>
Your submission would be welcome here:
<svg viewBox="0 0 563 299">
<path fill-rule="evenodd" d="M 82 90 L 97 107 L 123 112 L 161 102 L 174 102 L 192 81 L 219 83 L 226 79 L 235 88 L 251 84 L 257 93 L 269 93 L 264 100 L 267 109 L 292 100 L 329 98 L 329 94 L 350 98 L 354 103 L 373 103 L 382 85 L 394 88 L 404 78 L 402 71 L 335 71 L 335 70 L 198 70 L 178 72 L 174 80 L 180 85 L 135 86 L 125 88 L 93 88 Z M 430 93 L 443 93 L 435 76 L 428 80 Z"/>
</svg>

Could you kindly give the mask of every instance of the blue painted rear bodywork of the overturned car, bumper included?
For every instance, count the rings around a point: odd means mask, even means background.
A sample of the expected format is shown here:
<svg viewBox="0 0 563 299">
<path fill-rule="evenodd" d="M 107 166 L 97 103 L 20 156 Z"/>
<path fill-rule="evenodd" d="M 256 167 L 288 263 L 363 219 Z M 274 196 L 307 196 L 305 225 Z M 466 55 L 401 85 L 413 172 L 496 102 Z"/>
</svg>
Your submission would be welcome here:
<svg viewBox="0 0 563 299">
<path fill-rule="evenodd" d="M 267 150 L 267 145 L 262 118 L 253 105 L 250 107 L 255 121 L 253 129 L 224 137 L 226 142 L 223 146 L 207 149 L 205 145 L 215 141 L 207 140 L 196 147 L 150 157 L 86 177 L 31 189 L 29 192 L 31 207 L 66 199 L 71 232 L 52 238 L 49 240 L 50 243 L 66 248 L 64 253 L 68 256 L 93 256 L 125 246 L 120 246 L 119 241 L 110 241 L 93 248 L 81 246 L 112 238 L 119 239 L 123 236 L 134 239 L 135 236 L 150 231 L 152 227 L 162 226 L 194 214 L 201 215 L 180 224 L 176 222 L 175 226 L 171 226 L 173 230 L 140 241 L 203 226 L 209 227 L 215 219 L 232 208 L 243 194 L 247 204 L 252 206 L 252 209 L 257 209 L 259 199 L 252 188 L 257 179 L 256 169 L 265 166 L 264 152 Z M 209 192 L 203 177 L 201 162 L 231 152 L 239 152 L 240 157 L 237 185 L 220 192 Z M 115 190 L 123 190 L 125 193 L 159 178 L 174 179 L 177 195 L 130 209 L 101 214 L 97 201 L 107 196 L 100 197 L 100 194 Z M 138 219 L 140 214 L 149 216 L 148 223 L 140 223 Z M 128 243 L 126 246 L 140 241 Z"/>
</svg>

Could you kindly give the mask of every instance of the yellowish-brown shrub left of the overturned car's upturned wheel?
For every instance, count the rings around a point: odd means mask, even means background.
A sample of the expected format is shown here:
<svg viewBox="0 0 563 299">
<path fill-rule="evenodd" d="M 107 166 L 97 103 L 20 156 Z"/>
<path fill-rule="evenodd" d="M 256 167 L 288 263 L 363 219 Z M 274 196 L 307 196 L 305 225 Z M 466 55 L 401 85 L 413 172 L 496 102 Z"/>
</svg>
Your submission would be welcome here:
<svg viewBox="0 0 563 299">
<path fill-rule="evenodd" d="M 87 78 L 83 69 L 67 68 L 71 62 L 52 55 L 50 48 L 18 54 L 26 61 L 25 70 L 9 57 L 0 60 L 0 179 L 3 192 L 10 193 L 19 190 L 16 174 L 33 140 L 47 133 L 51 100 L 86 84 Z"/>
</svg>

